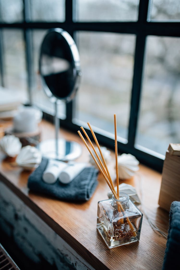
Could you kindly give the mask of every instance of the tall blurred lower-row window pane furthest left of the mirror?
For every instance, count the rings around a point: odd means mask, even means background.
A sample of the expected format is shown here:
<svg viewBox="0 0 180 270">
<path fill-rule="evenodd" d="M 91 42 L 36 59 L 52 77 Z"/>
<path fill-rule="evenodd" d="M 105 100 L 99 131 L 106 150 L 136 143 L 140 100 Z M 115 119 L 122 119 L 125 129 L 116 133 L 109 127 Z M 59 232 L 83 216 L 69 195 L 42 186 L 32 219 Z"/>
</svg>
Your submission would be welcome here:
<svg viewBox="0 0 180 270">
<path fill-rule="evenodd" d="M 4 29 L 5 87 L 27 97 L 27 73 L 23 31 Z"/>
</svg>

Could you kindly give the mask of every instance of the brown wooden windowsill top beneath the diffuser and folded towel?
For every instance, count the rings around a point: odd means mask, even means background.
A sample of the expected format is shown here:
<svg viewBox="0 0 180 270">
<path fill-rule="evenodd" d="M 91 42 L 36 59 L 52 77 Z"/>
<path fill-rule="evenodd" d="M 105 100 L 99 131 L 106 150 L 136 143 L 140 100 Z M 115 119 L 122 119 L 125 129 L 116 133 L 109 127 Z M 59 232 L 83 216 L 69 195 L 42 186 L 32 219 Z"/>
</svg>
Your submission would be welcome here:
<svg viewBox="0 0 180 270">
<path fill-rule="evenodd" d="M 42 139 L 53 138 L 52 124 L 45 121 L 41 124 Z M 88 161 L 87 149 L 79 135 L 61 130 L 61 137 L 74 140 L 82 145 L 82 155 L 78 161 Z M 27 180 L 29 172 L 22 168 L 13 168 L 10 160 L 1 155 L 0 180 L 13 190 L 33 211 L 35 211 L 57 234 L 72 246 L 95 269 L 161 269 L 166 239 L 156 234 L 147 222 L 142 221 L 140 241 L 121 247 L 108 249 L 96 230 L 97 203 L 107 199 L 109 188 L 101 175 L 99 185 L 93 197 L 84 203 L 58 201 L 43 195 L 29 192 Z M 116 183 L 115 159 L 109 170 Z M 120 181 L 120 183 L 122 183 Z M 151 221 L 163 232 L 168 230 L 168 212 L 158 207 L 161 185 L 161 174 L 145 166 L 131 180 L 126 181 L 142 193 L 143 205 Z M 140 195 L 141 197 L 141 195 Z M 139 207 L 143 212 L 142 206 Z"/>
</svg>

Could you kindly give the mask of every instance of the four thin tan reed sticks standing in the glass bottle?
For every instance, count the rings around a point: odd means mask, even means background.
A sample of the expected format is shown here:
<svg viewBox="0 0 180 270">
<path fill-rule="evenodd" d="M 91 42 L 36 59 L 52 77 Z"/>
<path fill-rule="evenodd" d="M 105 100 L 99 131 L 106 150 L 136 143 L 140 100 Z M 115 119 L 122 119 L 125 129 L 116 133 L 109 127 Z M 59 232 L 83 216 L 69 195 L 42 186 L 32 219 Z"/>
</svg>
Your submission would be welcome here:
<svg viewBox="0 0 180 270">
<path fill-rule="evenodd" d="M 81 132 L 80 132 L 79 130 L 78 130 L 78 134 L 79 134 L 79 136 L 81 137 L 81 139 L 83 140 L 85 146 L 87 147 L 89 153 L 91 154 L 91 156 L 92 156 L 94 162 L 96 163 L 97 167 L 99 168 L 99 170 L 100 170 L 101 174 L 103 175 L 104 179 L 106 180 L 106 183 L 108 184 L 108 186 L 109 186 L 110 190 L 112 191 L 114 197 L 116 198 L 116 200 L 119 201 L 119 178 L 118 178 L 118 162 L 117 162 L 118 152 L 117 152 L 117 123 L 116 123 L 116 114 L 114 114 L 114 133 L 115 133 L 115 156 L 116 156 L 116 184 L 117 184 L 117 193 L 116 193 L 116 190 L 115 190 L 115 188 L 114 188 L 112 178 L 111 178 L 111 176 L 110 176 L 110 173 L 109 173 L 109 170 L 108 170 L 106 161 L 105 161 L 104 156 L 103 156 L 103 154 L 102 154 L 100 145 L 99 145 L 99 143 L 98 143 L 98 141 L 97 141 L 97 138 L 96 138 L 96 135 L 94 134 L 94 131 L 92 130 L 90 123 L 88 122 L 87 124 L 88 124 L 88 126 L 89 126 L 89 128 L 90 128 L 90 131 L 91 131 L 92 135 L 93 135 L 93 138 L 94 138 L 94 140 L 95 140 L 95 143 L 96 143 L 96 145 L 97 145 L 97 148 L 99 149 L 99 152 L 100 152 L 100 155 L 101 155 L 101 158 L 102 158 L 104 164 L 102 163 L 102 161 L 101 161 L 101 159 L 100 159 L 100 157 L 99 157 L 99 155 L 98 155 L 98 153 L 97 153 L 95 147 L 93 146 L 93 143 L 91 142 L 89 136 L 87 135 L 87 133 L 86 133 L 86 131 L 84 130 L 83 127 L 81 127 L 81 129 L 82 129 L 82 131 L 84 132 L 84 134 L 85 134 L 87 140 L 89 141 L 89 143 L 90 143 L 92 149 L 94 150 L 94 153 L 96 154 L 96 157 L 97 157 L 99 163 L 98 163 L 98 161 L 96 160 L 94 154 L 92 153 L 90 147 L 89 147 L 88 144 L 86 143 L 85 139 L 83 138 L 83 136 L 82 136 L 82 134 L 81 134 Z M 121 217 L 123 217 L 122 212 L 124 212 L 124 214 L 125 214 L 125 211 L 124 211 L 124 209 L 123 209 L 123 206 L 121 205 L 120 202 L 118 202 L 117 205 L 118 205 L 118 211 L 121 213 Z M 133 231 L 133 235 L 136 236 L 136 232 L 134 231 L 134 227 L 133 227 L 132 223 L 130 222 L 130 220 L 129 220 L 129 218 L 127 217 L 127 215 L 125 215 L 125 216 L 126 216 L 126 219 L 127 219 L 128 224 L 129 224 L 129 226 L 130 226 L 130 228 L 131 228 L 131 231 Z M 123 224 L 123 222 L 124 222 L 124 221 L 123 221 L 123 218 L 120 219 L 120 222 L 121 222 L 121 224 Z"/>
</svg>

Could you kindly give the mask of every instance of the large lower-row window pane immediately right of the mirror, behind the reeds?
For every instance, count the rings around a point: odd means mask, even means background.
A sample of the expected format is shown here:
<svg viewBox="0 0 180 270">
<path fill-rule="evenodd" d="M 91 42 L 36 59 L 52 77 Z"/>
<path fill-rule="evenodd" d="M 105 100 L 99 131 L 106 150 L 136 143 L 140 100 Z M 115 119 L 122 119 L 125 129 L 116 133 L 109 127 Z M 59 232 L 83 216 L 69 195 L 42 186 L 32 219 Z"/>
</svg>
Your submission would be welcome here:
<svg viewBox="0 0 180 270">
<path fill-rule="evenodd" d="M 79 32 L 82 81 L 76 119 L 127 138 L 134 65 L 134 35 Z"/>
</svg>

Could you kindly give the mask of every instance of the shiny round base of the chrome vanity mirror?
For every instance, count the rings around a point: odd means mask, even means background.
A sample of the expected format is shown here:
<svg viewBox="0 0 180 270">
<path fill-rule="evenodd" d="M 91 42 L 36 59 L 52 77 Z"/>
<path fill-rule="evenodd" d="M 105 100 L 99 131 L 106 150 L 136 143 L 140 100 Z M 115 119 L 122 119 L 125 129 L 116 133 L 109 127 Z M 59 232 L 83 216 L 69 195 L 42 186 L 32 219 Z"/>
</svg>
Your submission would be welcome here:
<svg viewBox="0 0 180 270">
<path fill-rule="evenodd" d="M 78 158 L 81 155 L 81 146 L 75 141 L 57 140 L 58 150 L 56 151 L 56 140 L 46 140 L 38 144 L 37 148 L 43 157 L 56 160 L 69 161 Z"/>
</svg>

